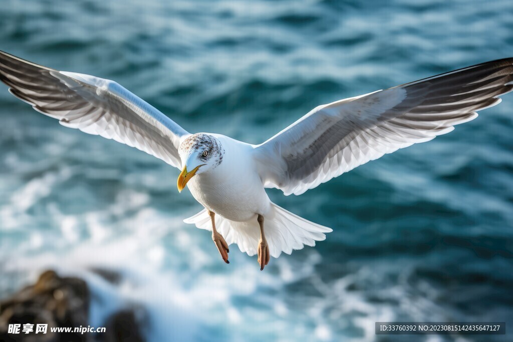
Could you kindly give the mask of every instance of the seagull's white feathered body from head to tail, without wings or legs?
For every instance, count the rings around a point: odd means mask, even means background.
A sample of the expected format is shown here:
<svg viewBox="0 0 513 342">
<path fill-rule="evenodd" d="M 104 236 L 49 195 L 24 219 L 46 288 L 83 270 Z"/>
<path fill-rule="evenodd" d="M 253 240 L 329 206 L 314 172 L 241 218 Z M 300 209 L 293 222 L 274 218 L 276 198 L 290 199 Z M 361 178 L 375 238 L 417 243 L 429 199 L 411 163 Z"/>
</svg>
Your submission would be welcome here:
<svg viewBox="0 0 513 342">
<path fill-rule="evenodd" d="M 208 146 L 207 157 L 219 160 L 222 154 L 222 158 L 220 163 L 214 162 L 208 172 L 195 175 L 187 184 L 192 196 L 206 209 L 185 219 L 186 223 L 212 230 L 207 210 L 213 211 L 217 214 L 216 227 L 226 242 L 236 243 L 242 252 L 254 255 L 260 237 L 257 222 L 260 214 L 266 218 L 267 242 L 273 257 L 281 252 L 290 254 L 304 245 L 315 246 L 315 241 L 324 240 L 324 233 L 331 231 L 271 202 L 258 172 L 253 145 L 221 134 L 196 133 L 181 144 L 180 153 L 186 159 L 191 150 L 204 146 Z"/>
</svg>

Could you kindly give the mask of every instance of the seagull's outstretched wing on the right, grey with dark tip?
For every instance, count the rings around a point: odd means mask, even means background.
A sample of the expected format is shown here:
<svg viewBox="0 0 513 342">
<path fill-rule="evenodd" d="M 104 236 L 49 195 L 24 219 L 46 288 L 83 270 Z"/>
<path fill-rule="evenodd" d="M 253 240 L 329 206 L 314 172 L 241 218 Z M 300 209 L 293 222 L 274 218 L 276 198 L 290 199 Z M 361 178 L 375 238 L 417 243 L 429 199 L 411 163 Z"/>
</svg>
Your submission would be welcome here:
<svg viewBox="0 0 513 342">
<path fill-rule="evenodd" d="M 319 106 L 255 147 L 264 185 L 302 194 L 385 153 L 431 140 L 497 105 L 513 58 Z"/>
</svg>

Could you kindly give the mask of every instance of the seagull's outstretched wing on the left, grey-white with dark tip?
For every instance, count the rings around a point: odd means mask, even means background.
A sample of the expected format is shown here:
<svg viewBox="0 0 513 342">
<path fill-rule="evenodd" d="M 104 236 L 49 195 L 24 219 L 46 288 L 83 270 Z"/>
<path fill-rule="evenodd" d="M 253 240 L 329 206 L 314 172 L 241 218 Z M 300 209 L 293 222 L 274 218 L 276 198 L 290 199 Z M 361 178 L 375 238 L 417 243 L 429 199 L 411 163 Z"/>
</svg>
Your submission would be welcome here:
<svg viewBox="0 0 513 342">
<path fill-rule="evenodd" d="M 114 139 L 181 166 L 178 148 L 189 133 L 113 81 L 46 68 L 2 51 L 0 80 L 11 94 L 66 127 Z"/>
</svg>

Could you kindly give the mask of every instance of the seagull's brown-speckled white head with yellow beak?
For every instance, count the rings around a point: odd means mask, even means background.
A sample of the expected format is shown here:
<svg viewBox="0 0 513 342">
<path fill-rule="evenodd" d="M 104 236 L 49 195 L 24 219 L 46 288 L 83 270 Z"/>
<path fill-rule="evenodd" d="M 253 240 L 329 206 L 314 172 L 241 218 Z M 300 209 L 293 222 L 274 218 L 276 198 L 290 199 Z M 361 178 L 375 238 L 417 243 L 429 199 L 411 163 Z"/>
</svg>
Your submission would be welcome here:
<svg viewBox="0 0 513 342">
<path fill-rule="evenodd" d="M 194 175 L 208 172 L 223 162 L 224 149 L 221 142 L 205 133 L 187 137 L 180 144 L 178 152 L 182 160 L 182 173 L 176 182 L 179 192 L 182 192 Z"/>
</svg>

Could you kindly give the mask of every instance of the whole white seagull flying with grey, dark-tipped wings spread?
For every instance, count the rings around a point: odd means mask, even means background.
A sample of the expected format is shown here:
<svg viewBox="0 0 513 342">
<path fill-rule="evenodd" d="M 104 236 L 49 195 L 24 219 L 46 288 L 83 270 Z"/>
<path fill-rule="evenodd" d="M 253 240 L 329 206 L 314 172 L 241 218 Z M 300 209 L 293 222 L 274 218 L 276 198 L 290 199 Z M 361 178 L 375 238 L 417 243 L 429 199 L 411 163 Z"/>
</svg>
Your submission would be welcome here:
<svg viewBox="0 0 513 342">
<path fill-rule="evenodd" d="M 181 170 L 204 207 L 184 220 L 212 231 L 225 263 L 229 245 L 258 255 L 315 246 L 330 228 L 280 208 L 266 188 L 300 195 L 357 166 L 427 142 L 475 119 L 513 89 L 513 58 L 498 59 L 314 108 L 260 145 L 218 133 L 191 134 L 119 84 L 58 71 L 0 51 L 9 92 L 63 126 L 147 152 Z"/>
</svg>

